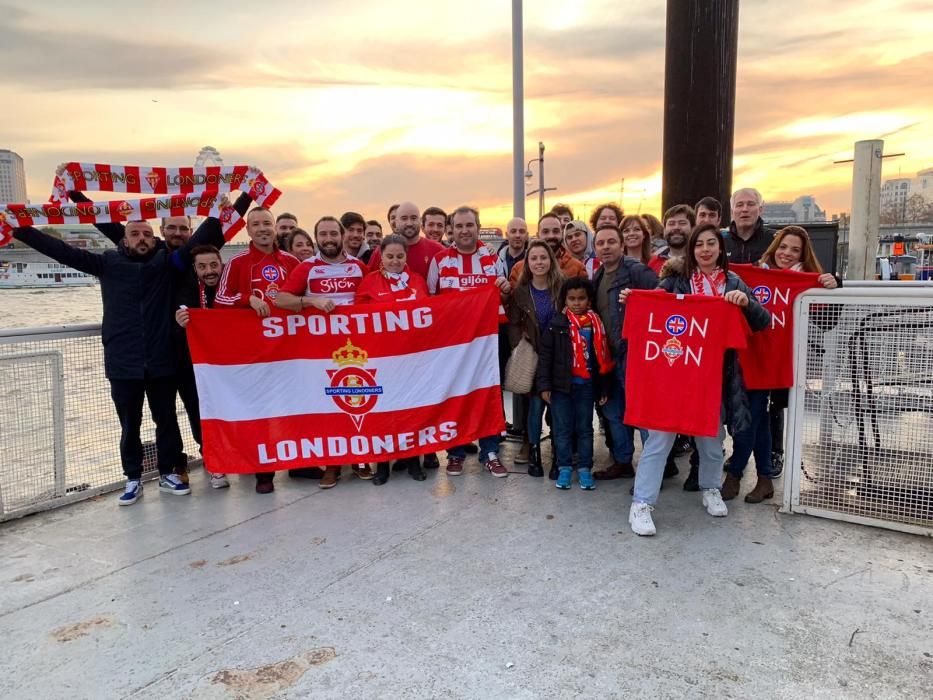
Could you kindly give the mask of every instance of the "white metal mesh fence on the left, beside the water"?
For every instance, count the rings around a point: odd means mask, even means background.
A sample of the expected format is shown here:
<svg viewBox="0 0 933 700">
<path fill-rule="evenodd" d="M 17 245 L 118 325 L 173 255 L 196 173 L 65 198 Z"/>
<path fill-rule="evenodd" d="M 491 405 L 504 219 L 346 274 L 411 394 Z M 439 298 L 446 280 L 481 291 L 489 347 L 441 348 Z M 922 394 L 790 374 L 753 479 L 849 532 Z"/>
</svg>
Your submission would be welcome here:
<svg viewBox="0 0 933 700">
<path fill-rule="evenodd" d="M 100 326 L 3 331 L 0 372 L 0 520 L 122 487 Z M 197 456 L 178 406 L 185 451 Z M 145 408 L 141 435 L 143 478 L 154 478 L 155 426 Z"/>
</svg>

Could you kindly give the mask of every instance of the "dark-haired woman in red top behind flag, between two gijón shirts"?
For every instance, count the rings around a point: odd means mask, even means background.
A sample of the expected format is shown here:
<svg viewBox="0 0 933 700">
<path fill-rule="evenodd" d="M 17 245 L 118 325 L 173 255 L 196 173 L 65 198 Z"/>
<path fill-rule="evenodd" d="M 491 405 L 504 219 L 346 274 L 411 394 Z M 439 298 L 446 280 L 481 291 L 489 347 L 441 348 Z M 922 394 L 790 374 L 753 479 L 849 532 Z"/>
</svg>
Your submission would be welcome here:
<svg viewBox="0 0 933 700">
<path fill-rule="evenodd" d="M 400 301 L 413 301 L 428 296 L 428 288 L 420 275 L 408 269 L 405 239 L 397 233 L 385 236 L 379 243 L 381 260 L 379 270 L 370 272 L 356 288 L 355 304 L 393 304 Z M 427 476 L 418 457 L 400 459 L 395 469 L 408 468 L 408 474 L 415 481 L 424 481 Z M 389 462 L 376 465 L 373 483 L 381 486 L 389 480 Z"/>
</svg>

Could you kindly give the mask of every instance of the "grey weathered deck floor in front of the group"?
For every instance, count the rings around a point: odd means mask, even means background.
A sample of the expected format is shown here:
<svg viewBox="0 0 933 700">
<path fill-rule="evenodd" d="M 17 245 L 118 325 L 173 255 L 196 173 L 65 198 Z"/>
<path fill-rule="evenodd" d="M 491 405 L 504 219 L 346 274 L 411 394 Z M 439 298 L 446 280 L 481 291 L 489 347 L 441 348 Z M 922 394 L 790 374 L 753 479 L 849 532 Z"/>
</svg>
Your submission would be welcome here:
<svg viewBox="0 0 933 700">
<path fill-rule="evenodd" d="M 630 480 L 475 459 L 272 496 L 198 473 L 0 525 L 0 697 L 931 697 L 929 539 L 713 519 L 681 470 L 644 539 Z"/>
</svg>

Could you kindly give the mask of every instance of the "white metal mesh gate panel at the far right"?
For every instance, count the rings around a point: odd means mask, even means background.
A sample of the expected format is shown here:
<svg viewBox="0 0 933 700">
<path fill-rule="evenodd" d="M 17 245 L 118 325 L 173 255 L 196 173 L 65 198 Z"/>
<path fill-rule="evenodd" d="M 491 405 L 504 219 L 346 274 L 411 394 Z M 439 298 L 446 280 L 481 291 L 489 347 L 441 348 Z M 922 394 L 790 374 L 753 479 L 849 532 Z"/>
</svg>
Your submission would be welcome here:
<svg viewBox="0 0 933 700">
<path fill-rule="evenodd" d="M 891 291 L 800 299 L 789 505 L 933 534 L 933 289 Z"/>
</svg>

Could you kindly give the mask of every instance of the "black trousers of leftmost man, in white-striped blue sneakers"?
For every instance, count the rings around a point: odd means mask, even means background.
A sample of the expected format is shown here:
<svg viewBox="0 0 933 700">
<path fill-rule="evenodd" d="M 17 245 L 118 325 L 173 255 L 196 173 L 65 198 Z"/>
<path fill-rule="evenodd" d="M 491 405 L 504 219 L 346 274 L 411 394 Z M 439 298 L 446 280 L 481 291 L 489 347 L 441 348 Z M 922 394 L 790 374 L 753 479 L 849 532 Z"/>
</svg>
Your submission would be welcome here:
<svg viewBox="0 0 933 700">
<path fill-rule="evenodd" d="M 175 378 L 111 379 L 110 397 L 120 418 L 120 461 L 127 479 L 139 479 L 143 471 L 143 445 L 139 437 L 143 397 L 156 424 L 159 474 L 171 474 L 184 462 L 181 433 L 175 414 Z"/>
</svg>

